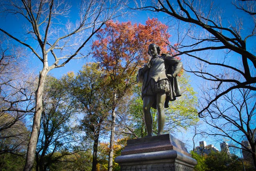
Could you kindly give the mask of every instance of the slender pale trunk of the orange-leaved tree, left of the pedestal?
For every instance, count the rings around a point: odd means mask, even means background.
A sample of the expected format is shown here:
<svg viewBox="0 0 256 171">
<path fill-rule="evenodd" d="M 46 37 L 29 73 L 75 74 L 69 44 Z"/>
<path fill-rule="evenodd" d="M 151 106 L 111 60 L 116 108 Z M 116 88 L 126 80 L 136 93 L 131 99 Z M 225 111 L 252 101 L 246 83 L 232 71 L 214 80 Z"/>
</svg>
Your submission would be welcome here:
<svg viewBox="0 0 256 171">
<path fill-rule="evenodd" d="M 111 134 L 110 134 L 110 145 L 109 145 L 109 155 L 108 155 L 108 171 L 113 169 L 113 153 L 114 153 L 114 140 L 115 140 L 115 128 L 116 128 L 116 92 L 114 93 L 112 106 L 112 121 L 111 121 Z"/>
</svg>

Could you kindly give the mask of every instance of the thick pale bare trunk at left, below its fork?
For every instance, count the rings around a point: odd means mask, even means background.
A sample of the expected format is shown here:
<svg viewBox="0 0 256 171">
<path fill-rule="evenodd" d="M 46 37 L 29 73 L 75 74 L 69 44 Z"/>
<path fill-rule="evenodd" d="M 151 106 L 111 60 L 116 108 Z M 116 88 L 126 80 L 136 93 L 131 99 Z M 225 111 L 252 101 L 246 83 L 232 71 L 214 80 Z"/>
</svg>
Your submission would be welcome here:
<svg viewBox="0 0 256 171">
<path fill-rule="evenodd" d="M 44 67 L 42 72 L 39 74 L 38 88 L 36 90 L 36 109 L 34 112 L 33 127 L 31 131 L 31 136 L 28 142 L 28 151 L 26 156 L 26 163 L 24 166 L 24 171 L 31 171 L 33 168 L 35 154 L 36 154 L 36 145 L 38 141 L 39 131 L 40 131 L 40 122 L 42 116 L 42 95 L 44 91 L 44 82 L 46 75 L 48 73 L 48 67 Z"/>
</svg>

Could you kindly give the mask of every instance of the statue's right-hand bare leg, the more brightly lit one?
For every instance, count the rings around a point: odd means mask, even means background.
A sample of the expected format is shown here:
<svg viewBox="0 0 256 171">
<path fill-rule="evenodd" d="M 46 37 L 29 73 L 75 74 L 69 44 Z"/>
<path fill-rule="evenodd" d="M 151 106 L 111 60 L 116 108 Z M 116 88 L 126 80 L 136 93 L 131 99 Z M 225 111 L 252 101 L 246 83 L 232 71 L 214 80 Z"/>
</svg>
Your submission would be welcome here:
<svg viewBox="0 0 256 171">
<path fill-rule="evenodd" d="M 164 114 L 164 102 L 166 99 L 165 93 L 158 93 L 156 95 L 156 107 L 158 111 L 158 133 L 157 135 L 162 135 L 164 130 L 165 114 Z"/>
</svg>

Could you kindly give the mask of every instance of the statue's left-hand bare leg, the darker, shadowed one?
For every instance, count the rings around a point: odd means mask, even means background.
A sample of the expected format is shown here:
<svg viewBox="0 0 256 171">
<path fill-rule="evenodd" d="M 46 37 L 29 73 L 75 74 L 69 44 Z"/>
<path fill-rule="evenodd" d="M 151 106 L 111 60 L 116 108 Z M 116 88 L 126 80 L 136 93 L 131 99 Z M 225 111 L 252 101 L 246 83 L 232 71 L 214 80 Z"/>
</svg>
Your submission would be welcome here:
<svg viewBox="0 0 256 171">
<path fill-rule="evenodd" d="M 152 115 L 150 113 L 150 108 L 154 103 L 154 96 L 148 95 L 143 97 L 143 112 L 144 112 L 144 121 L 146 129 L 148 132 L 147 136 L 152 136 Z"/>
</svg>

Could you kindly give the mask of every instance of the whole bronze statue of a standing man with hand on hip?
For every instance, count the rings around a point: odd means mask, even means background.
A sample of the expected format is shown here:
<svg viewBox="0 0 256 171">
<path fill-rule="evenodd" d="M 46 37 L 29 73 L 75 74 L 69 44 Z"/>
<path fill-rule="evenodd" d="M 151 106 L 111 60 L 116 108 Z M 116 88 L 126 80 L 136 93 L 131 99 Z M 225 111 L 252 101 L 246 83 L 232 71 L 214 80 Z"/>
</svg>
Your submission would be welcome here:
<svg viewBox="0 0 256 171">
<path fill-rule="evenodd" d="M 160 56 L 160 47 L 156 44 L 148 46 L 148 54 L 151 60 L 139 69 L 137 82 L 142 82 L 141 93 L 147 136 L 152 136 L 151 107 L 158 111 L 157 135 L 162 135 L 165 122 L 164 107 L 169 107 L 169 101 L 181 95 L 176 76 L 182 69 L 182 62 L 170 54 Z"/>
</svg>

